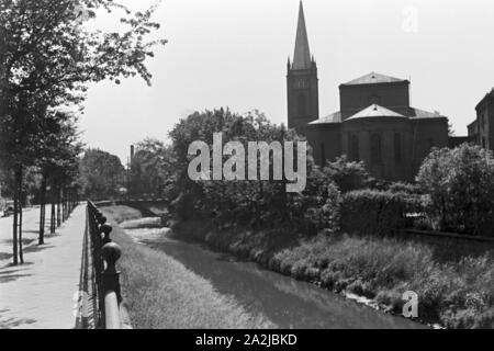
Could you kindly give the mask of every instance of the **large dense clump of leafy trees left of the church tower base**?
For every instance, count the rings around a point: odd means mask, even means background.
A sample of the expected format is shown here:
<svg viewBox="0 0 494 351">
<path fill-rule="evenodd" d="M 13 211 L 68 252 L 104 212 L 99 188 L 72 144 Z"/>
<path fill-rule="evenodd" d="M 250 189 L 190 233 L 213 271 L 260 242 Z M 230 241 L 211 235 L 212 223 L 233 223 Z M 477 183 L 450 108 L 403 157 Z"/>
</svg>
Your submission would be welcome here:
<svg viewBox="0 0 494 351">
<path fill-rule="evenodd" d="M 224 143 L 237 140 L 245 149 L 248 141 L 300 140 L 293 131 L 271 124 L 257 111 L 242 116 L 222 109 L 194 113 L 180 121 L 170 133 L 178 173 L 176 189 L 180 194 L 173 207 L 181 210 L 179 215 L 184 218 L 191 215 L 212 217 L 218 226 L 238 224 L 310 229 L 308 218 L 313 216 L 310 208 L 325 205 L 327 189 L 313 186 L 302 194 L 293 194 L 287 193 L 284 180 L 204 182 L 189 179 L 188 165 L 192 159 L 188 155 L 189 145 L 204 140 L 212 146 L 213 134 L 217 132 L 223 133 Z M 272 166 L 272 159 L 270 162 Z M 310 157 L 307 176 L 313 177 L 314 172 L 316 168 Z M 319 195 L 312 196 L 312 192 Z"/>
</svg>

